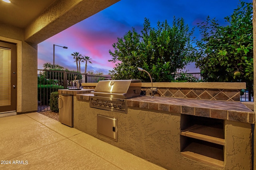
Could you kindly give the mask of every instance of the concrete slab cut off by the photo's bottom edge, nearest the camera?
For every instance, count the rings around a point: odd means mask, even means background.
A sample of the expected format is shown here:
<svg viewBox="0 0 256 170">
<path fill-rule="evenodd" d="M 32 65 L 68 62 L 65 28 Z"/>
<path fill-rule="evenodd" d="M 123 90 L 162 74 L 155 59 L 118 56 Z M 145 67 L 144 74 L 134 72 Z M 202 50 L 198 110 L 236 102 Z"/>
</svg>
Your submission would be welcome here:
<svg viewBox="0 0 256 170">
<path fill-rule="evenodd" d="M 33 150 L 11 159 L 27 160 L 28 164 L 13 164 L 12 168 L 26 169 L 60 169 L 60 170 L 119 170 L 110 162 L 84 149 L 69 139 L 64 139 L 46 147 Z M 9 166 L 6 165 L 6 168 Z"/>
</svg>

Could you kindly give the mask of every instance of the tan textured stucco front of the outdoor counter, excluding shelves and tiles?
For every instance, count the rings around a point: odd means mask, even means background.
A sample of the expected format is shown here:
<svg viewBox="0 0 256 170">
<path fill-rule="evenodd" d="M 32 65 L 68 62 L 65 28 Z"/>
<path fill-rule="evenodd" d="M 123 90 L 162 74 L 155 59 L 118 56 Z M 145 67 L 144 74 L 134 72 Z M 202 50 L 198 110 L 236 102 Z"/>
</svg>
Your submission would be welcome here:
<svg viewBox="0 0 256 170">
<path fill-rule="evenodd" d="M 216 168 L 182 156 L 180 114 L 132 107 L 129 107 L 128 113 L 124 114 L 91 108 L 89 102 L 78 101 L 76 97 L 73 102 L 74 128 L 164 168 L 216 170 L 244 167 L 251 169 L 252 141 L 249 123 L 224 122 L 226 134 L 224 168 Z M 115 117 L 118 120 L 117 142 L 97 134 L 97 114 Z"/>
</svg>

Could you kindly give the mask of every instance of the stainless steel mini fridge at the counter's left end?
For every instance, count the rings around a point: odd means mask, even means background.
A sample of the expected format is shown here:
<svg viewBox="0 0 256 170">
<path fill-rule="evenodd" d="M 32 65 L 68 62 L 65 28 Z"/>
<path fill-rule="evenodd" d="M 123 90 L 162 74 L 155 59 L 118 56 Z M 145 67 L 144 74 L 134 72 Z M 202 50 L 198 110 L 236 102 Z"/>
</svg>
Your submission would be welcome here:
<svg viewBox="0 0 256 170">
<path fill-rule="evenodd" d="M 58 108 L 60 123 L 73 127 L 73 95 L 60 94 Z"/>
</svg>

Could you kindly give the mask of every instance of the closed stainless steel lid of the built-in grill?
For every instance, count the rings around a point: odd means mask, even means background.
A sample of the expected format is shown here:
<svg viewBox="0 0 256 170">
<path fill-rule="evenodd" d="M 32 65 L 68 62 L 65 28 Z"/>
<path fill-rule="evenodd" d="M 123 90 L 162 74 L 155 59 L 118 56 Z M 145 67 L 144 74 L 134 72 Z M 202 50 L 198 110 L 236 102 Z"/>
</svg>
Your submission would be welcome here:
<svg viewBox="0 0 256 170">
<path fill-rule="evenodd" d="M 141 80 L 102 80 L 95 87 L 94 96 L 132 98 L 140 96 Z"/>
</svg>

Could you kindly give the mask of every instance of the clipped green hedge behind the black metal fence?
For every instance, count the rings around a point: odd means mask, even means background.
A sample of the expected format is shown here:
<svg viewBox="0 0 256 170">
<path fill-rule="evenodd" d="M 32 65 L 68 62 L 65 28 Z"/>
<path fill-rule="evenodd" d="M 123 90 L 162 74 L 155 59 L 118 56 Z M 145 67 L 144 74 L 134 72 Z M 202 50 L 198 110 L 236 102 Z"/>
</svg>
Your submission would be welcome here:
<svg viewBox="0 0 256 170">
<path fill-rule="evenodd" d="M 51 92 L 58 92 L 59 89 L 64 89 L 63 86 L 53 85 L 53 84 L 38 84 L 38 101 L 41 102 L 42 105 L 47 105 L 50 100 Z"/>
</svg>

